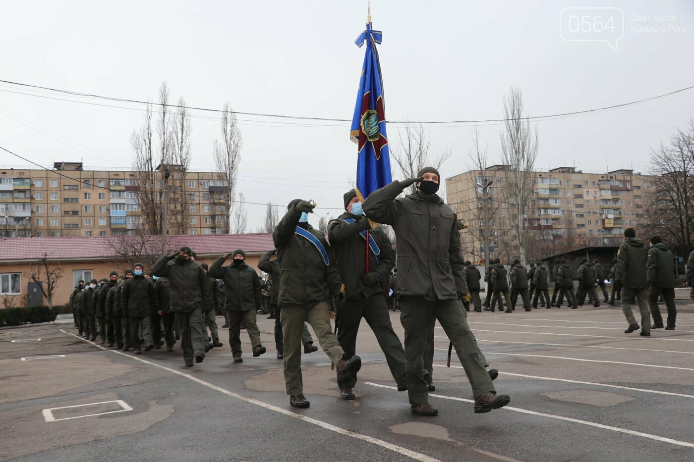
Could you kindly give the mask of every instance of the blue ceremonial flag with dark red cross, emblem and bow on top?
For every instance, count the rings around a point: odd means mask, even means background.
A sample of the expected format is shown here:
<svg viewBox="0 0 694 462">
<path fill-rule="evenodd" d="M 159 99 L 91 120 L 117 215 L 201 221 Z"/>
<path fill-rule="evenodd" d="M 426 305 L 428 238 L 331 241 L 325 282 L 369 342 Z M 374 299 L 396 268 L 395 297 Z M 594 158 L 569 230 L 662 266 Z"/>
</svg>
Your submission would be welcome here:
<svg viewBox="0 0 694 462">
<path fill-rule="evenodd" d="M 392 181 L 386 119 L 383 101 L 383 80 L 376 44 L 381 43 L 381 31 L 374 31 L 371 22 L 355 40 L 361 47 L 366 42 L 366 55 L 359 92 L 352 118 L 350 138 L 359 146 L 357 157 L 357 196 L 364 200 L 371 192 Z"/>
</svg>

